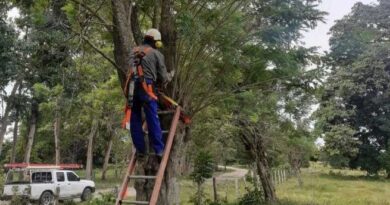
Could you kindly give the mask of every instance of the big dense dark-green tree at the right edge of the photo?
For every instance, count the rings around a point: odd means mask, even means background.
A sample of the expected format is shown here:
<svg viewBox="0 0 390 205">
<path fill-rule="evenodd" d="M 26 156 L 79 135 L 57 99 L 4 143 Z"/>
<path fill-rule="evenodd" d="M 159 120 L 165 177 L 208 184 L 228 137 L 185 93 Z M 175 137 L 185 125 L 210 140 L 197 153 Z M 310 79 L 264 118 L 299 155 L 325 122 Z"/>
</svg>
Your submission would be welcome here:
<svg viewBox="0 0 390 205">
<path fill-rule="evenodd" d="M 317 127 L 335 166 L 370 174 L 385 168 L 389 141 L 390 3 L 356 4 L 332 28 L 332 72 L 321 97 Z"/>
</svg>

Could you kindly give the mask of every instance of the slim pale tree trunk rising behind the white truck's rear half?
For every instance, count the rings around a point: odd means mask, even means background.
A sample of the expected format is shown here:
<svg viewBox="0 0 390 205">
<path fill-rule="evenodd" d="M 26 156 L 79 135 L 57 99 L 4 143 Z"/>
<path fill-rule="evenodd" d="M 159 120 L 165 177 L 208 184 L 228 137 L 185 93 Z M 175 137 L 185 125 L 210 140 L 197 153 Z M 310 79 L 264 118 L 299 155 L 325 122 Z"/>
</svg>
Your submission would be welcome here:
<svg viewBox="0 0 390 205">
<path fill-rule="evenodd" d="M 31 150 L 33 147 L 35 132 L 38 123 L 38 113 L 39 113 L 39 105 L 38 102 L 34 100 L 31 105 L 31 117 L 29 123 L 30 125 L 29 125 L 28 137 L 27 137 L 26 153 L 24 155 L 25 163 L 30 163 Z"/>
</svg>

